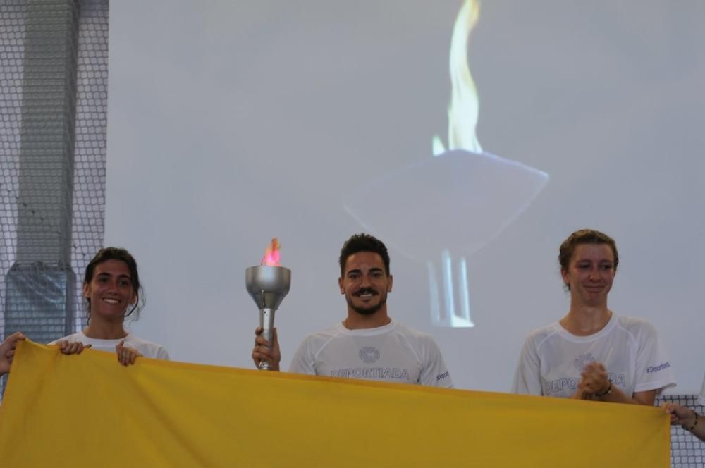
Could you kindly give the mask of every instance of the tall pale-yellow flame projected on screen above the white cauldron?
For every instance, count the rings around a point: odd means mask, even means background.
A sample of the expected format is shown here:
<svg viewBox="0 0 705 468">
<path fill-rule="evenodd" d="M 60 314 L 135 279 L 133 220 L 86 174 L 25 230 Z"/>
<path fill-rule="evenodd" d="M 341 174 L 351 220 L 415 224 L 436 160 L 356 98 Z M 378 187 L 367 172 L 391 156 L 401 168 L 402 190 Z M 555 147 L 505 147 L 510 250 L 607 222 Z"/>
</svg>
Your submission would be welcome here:
<svg viewBox="0 0 705 468">
<path fill-rule="evenodd" d="M 452 94 L 448 106 L 448 150 L 467 149 L 482 153 L 475 129 L 479 113 L 477 87 L 467 64 L 467 42 L 479 19 L 479 0 L 465 0 L 455 18 L 450 39 L 450 82 Z M 433 139 L 434 156 L 446 152 L 441 138 Z"/>
</svg>

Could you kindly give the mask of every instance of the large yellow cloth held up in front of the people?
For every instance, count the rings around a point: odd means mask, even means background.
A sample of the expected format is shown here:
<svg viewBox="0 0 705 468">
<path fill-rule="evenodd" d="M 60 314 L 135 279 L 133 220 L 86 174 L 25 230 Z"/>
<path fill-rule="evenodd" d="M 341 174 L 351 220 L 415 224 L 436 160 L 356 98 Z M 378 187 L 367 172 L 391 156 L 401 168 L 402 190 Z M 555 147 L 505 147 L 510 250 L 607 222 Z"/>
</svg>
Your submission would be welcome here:
<svg viewBox="0 0 705 468">
<path fill-rule="evenodd" d="M 18 347 L 2 467 L 668 467 L 663 411 Z"/>
</svg>

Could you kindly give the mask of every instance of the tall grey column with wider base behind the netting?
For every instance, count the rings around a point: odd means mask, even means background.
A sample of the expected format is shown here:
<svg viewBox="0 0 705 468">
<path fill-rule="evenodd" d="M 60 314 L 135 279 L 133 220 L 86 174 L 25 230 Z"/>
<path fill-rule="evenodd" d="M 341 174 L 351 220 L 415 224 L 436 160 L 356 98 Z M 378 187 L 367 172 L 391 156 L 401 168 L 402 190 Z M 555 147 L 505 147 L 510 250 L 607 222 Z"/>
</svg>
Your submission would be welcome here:
<svg viewBox="0 0 705 468">
<path fill-rule="evenodd" d="M 71 207 L 78 1 L 30 0 L 23 59 L 16 262 L 5 333 L 48 342 L 73 329 Z"/>
</svg>

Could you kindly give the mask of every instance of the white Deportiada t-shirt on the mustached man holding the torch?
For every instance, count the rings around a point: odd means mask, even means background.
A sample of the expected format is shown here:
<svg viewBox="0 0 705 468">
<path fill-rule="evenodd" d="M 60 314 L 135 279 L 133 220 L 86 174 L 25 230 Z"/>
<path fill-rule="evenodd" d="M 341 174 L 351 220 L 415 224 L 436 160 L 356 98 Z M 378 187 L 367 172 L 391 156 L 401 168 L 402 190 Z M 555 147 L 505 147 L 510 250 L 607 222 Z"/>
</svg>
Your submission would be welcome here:
<svg viewBox="0 0 705 468">
<path fill-rule="evenodd" d="M 431 335 L 394 321 L 348 330 L 337 324 L 304 338 L 290 372 L 329 377 L 452 387 L 441 350 Z"/>
</svg>

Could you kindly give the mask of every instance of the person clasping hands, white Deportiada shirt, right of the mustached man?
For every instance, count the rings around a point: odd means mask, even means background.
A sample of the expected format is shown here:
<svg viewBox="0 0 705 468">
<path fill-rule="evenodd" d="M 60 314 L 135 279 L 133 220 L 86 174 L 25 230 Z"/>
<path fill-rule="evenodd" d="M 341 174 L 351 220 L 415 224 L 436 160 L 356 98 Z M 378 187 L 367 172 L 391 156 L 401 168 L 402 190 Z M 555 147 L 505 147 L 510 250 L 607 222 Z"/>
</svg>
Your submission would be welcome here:
<svg viewBox="0 0 705 468">
<path fill-rule="evenodd" d="M 619 264 L 615 241 L 578 230 L 560 245 L 558 261 L 570 309 L 529 335 L 513 392 L 654 405 L 675 378 L 656 328 L 607 307 Z"/>
</svg>

